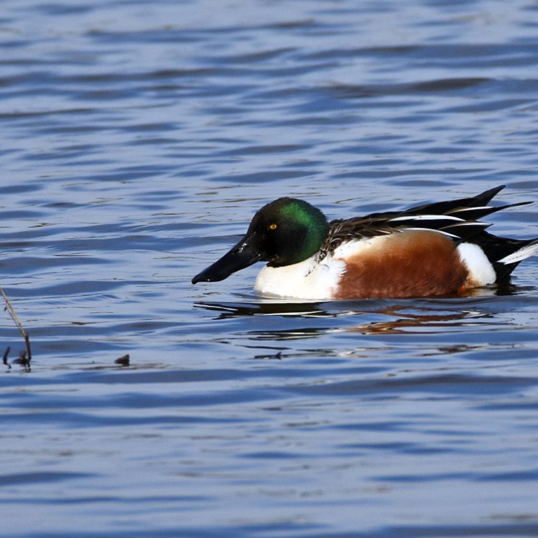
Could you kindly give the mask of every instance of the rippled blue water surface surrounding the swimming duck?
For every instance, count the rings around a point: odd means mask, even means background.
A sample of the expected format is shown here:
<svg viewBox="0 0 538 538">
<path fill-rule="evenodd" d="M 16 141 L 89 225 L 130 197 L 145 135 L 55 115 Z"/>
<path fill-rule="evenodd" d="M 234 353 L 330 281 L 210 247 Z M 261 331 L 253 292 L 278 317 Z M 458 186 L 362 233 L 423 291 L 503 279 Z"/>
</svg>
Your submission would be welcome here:
<svg viewBox="0 0 538 538">
<path fill-rule="evenodd" d="M 536 258 L 452 299 L 190 282 L 282 195 L 538 200 L 535 1 L 3 0 L 0 52 L 1 535 L 538 535 Z"/>
</svg>

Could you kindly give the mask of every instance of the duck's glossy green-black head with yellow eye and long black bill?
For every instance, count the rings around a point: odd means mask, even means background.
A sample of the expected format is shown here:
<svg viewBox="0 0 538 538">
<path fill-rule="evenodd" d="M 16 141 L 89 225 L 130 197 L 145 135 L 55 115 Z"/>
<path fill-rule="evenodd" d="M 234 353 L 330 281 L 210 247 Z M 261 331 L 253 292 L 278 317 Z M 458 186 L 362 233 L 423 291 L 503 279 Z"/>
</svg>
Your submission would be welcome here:
<svg viewBox="0 0 538 538">
<path fill-rule="evenodd" d="M 328 231 L 327 218 L 316 207 L 296 198 L 278 198 L 254 215 L 244 238 L 195 276 L 193 284 L 224 280 L 258 261 L 271 267 L 302 262 L 320 249 Z"/>
</svg>

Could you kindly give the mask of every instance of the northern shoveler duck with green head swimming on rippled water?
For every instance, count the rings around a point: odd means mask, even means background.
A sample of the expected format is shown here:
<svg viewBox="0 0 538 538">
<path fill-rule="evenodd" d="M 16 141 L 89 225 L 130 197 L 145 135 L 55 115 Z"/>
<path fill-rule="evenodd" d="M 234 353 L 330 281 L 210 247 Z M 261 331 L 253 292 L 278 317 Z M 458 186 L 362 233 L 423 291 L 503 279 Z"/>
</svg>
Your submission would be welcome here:
<svg viewBox="0 0 538 538">
<path fill-rule="evenodd" d="M 192 282 L 224 280 L 263 261 L 267 265 L 254 289 L 264 296 L 323 300 L 463 294 L 507 280 L 521 260 L 538 252 L 538 238 L 486 232 L 490 224 L 481 218 L 531 203 L 490 206 L 503 188 L 331 222 L 304 200 L 279 198 L 263 206 L 244 238 Z"/>
</svg>

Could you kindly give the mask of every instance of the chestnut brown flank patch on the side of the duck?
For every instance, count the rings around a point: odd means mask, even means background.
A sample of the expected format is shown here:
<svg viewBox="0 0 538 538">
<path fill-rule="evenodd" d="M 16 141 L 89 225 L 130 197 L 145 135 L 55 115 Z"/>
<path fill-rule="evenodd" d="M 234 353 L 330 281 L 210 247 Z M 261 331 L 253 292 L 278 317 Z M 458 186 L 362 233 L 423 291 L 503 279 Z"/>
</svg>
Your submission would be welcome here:
<svg viewBox="0 0 538 538">
<path fill-rule="evenodd" d="M 337 299 L 457 293 L 468 274 L 454 242 L 434 231 L 393 233 L 345 262 Z"/>
</svg>

